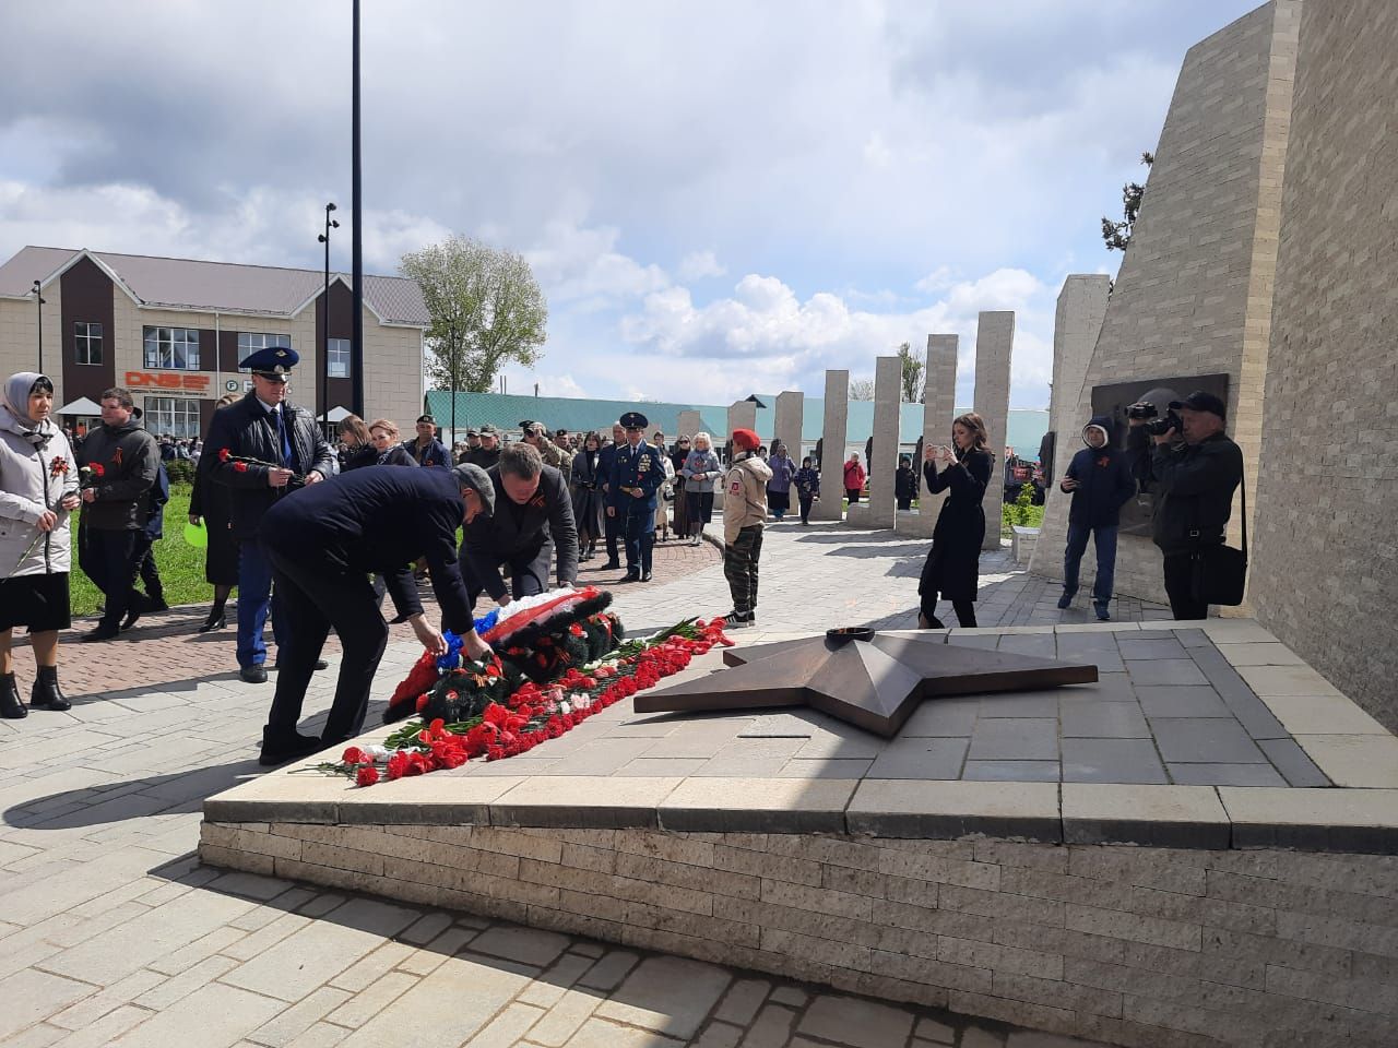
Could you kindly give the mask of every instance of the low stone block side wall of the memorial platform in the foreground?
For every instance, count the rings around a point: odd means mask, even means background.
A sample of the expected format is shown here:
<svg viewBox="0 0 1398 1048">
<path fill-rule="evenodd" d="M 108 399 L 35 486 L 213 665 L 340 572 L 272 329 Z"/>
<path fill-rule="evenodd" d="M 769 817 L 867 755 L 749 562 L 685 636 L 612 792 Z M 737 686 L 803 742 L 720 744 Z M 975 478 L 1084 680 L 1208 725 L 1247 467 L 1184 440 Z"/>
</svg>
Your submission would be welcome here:
<svg viewBox="0 0 1398 1048">
<path fill-rule="evenodd" d="M 1398 858 L 204 823 L 206 862 L 1141 1048 L 1391 1045 Z"/>
</svg>

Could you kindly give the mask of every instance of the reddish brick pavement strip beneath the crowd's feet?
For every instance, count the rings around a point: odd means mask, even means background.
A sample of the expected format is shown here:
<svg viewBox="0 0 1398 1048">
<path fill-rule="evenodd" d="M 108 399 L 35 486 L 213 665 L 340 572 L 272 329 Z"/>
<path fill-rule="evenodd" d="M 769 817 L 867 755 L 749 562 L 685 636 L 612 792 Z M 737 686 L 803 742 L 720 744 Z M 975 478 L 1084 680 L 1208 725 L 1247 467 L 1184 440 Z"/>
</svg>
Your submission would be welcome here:
<svg viewBox="0 0 1398 1048">
<path fill-rule="evenodd" d="M 577 581 L 601 587 L 618 581 L 625 572 L 600 570 L 598 565 L 604 560 L 603 556 L 582 565 Z M 709 542 L 699 546 L 678 541 L 657 544 L 651 584 L 674 581 L 721 560 L 723 552 Z M 422 585 L 422 599 L 429 608 L 435 604 L 428 584 Z M 488 597 L 482 597 L 477 602 L 477 612 L 484 615 L 493 606 Z M 183 681 L 218 675 L 233 676 L 238 671 L 233 654 L 233 609 L 229 608 L 226 629 L 217 633 L 197 633 L 207 613 L 207 606 L 173 608 L 143 618 L 123 633 L 120 640 L 102 644 L 77 643 L 78 636 L 91 630 L 96 620 L 75 620 L 74 627 L 60 640 L 59 678 L 64 692 L 77 699 L 131 687 L 161 689 Z M 412 627 L 407 623 L 391 627 L 390 644 L 411 640 Z M 267 644 L 271 648 L 271 658 L 275 658 L 275 644 L 271 641 L 270 630 Z M 326 653 L 338 654 L 338 651 L 340 640 L 331 633 Z M 22 636 L 15 637 L 14 655 L 21 692 L 27 694 L 28 683 L 34 681 L 34 655 Z"/>
</svg>

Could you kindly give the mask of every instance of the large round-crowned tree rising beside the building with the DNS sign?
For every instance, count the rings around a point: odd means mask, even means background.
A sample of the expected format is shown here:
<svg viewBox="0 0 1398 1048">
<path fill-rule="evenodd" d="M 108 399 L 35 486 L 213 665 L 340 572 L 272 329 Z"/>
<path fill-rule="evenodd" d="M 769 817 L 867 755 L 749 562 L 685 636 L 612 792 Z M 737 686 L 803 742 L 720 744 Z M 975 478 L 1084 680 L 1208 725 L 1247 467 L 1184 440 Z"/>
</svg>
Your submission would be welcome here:
<svg viewBox="0 0 1398 1048">
<path fill-rule="evenodd" d="M 422 288 L 432 317 L 432 388 L 488 393 L 506 362 L 538 362 L 548 302 L 524 256 L 452 236 L 404 254 L 398 271 Z"/>
</svg>

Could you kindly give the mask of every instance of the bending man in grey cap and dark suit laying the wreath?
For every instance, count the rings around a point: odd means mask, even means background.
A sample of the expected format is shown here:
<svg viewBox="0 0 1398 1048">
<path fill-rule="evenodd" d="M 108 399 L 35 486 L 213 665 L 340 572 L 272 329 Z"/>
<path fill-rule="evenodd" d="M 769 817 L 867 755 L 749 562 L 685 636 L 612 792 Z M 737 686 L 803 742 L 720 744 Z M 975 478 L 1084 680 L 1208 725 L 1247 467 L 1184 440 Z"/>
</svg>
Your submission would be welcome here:
<svg viewBox="0 0 1398 1048">
<path fill-rule="evenodd" d="M 259 541 L 271 560 L 287 640 L 260 763 L 281 764 L 351 739 L 363 729 L 369 687 L 389 640 L 369 576 L 380 573 L 422 646 L 446 643 L 422 613 L 412 563 L 432 570 L 432 591 L 446 627 L 459 633 L 470 658 L 489 654 L 474 632 L 471 602 L 456 560 L 456 530 L 491 516 L 495 488 L 475 465 L 453 470 L 355 470 L 306 488 L 270 509 Z M 344 655 L 334 703 L 319 739 L 301 735 L 306 686 L 330 627 Z"/>
</svg>

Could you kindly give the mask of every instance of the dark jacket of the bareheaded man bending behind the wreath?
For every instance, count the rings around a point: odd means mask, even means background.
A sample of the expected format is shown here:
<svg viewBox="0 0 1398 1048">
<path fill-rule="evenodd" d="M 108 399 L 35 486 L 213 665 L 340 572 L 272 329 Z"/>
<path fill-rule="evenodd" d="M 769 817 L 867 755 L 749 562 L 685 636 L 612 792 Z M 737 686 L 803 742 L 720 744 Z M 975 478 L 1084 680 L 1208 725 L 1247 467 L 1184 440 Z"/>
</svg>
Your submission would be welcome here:
<svg viewBox="0 0 1398 1048">
<path fill-rule="evenodd" d="M 520 506 L 505 493 L 499 465 L 485 472 L 495 483 L 495 513 L 467 524 L 461 539 L 461 556 L 481 580 L 485 592 L 499 601 L 509 592 L 500 576 L 500 565 L 533 558 L 549 539 L 554 541 L 558 584 L 573 585 L 577 581 L 577 525 L 573 523 L 573 500 L 563 475 L 545 465 L 538 475 L 534 497 Z"/>
</svg>

